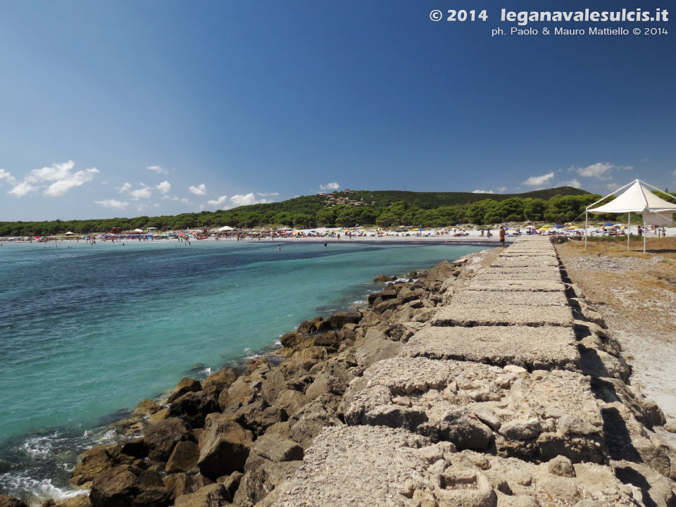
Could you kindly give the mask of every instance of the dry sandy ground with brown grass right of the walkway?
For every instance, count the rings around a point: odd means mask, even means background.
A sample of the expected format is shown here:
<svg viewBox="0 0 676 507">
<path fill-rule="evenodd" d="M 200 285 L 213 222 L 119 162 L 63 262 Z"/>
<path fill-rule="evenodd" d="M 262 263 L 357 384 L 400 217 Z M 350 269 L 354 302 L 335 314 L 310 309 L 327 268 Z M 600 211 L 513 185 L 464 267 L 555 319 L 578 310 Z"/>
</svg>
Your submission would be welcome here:
<svg viewBox="0 0 676 507">
<path fill-rule="evenodd" d="M 557 246 L 572 282 L 603 315 L 634 368 L 632 384 L 676 419 L 676 238 Z M 601 254 L 599 256 L 599 253 Z"/>
</svg>

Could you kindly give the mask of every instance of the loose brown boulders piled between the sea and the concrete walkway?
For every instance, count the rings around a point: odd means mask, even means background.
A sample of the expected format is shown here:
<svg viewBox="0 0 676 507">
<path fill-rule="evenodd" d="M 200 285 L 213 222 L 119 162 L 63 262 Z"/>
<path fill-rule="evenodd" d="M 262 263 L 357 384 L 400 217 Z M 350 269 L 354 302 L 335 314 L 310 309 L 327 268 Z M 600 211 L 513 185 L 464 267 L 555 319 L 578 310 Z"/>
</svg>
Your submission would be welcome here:
<svg viewBox="0 0 676 507">
<path fill-rule="evenodd" d="M 343 396 L 370 365 L 396 356 L 447 303 L 463 264 L 406 281 L 380 275 L 364 311 L 304 321 L 282 348 L 184 378 L 161 403 L 145 400 L 117 424 L 126 439 L 82 453 L 71 482 L 83 494 L 44 507 L 252 506 L 303 465 L 325 427 L 344 426 Z M 471 270 L 467 270 L 469 273 Z M 0 496 L 0 507 L 24 507 Z"/>
</svg>

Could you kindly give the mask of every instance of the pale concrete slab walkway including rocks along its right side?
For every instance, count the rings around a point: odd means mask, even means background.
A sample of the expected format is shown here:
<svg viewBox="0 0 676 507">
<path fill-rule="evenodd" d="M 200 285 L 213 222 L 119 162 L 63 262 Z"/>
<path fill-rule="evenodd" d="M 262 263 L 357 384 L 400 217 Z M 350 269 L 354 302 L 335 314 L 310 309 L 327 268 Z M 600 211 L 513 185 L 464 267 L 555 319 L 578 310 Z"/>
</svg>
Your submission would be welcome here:
<svg viewBox="0 0 676 507">
<path fill-rule="evenodd" d="M 663 415 L 566 281 L 546 239 L 458 280 L 258 506 L 675 505 Z"/>
</svg>

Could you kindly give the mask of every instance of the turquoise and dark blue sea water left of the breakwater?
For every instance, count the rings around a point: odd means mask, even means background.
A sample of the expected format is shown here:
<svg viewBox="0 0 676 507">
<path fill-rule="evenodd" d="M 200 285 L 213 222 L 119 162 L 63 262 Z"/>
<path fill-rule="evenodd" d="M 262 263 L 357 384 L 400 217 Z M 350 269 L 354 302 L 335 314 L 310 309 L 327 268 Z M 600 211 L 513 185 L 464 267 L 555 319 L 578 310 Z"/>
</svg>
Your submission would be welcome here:
<svg viewBox="0 0 676 507">
<path fill-rule="evenodd" d="M 72 246 L 72 248 L 68 248 Z M 273 346 L 403 275 L 485 246 L 83 242 L 0 247 L 0 493 L 67 489 L 95 430 L 184 376 Z"/>
</svg>

